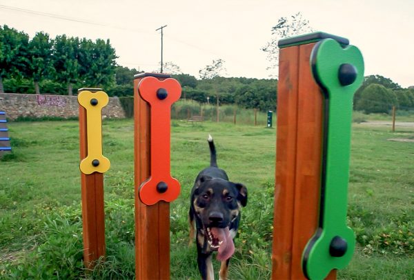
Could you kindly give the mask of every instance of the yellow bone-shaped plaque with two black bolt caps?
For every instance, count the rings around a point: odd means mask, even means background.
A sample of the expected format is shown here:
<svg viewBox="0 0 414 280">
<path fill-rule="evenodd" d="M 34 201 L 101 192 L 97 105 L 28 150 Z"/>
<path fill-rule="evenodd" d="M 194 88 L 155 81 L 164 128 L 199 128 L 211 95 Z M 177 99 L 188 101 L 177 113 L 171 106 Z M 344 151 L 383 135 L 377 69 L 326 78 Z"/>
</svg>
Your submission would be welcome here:
<svg viewBox="0 0 414 280">
<path fill-rule="evenodd" d="M 109 159 L 102 155 L 101 110 L 108 104 L 108 101 L 108 95 L 103 91 L 83 90 L 78 94 L 79 105 L 86 109 L 88 156 L 81 161 L 79 166 L 84 174 L 104 173 L 110 168 Z"/>
</svg>

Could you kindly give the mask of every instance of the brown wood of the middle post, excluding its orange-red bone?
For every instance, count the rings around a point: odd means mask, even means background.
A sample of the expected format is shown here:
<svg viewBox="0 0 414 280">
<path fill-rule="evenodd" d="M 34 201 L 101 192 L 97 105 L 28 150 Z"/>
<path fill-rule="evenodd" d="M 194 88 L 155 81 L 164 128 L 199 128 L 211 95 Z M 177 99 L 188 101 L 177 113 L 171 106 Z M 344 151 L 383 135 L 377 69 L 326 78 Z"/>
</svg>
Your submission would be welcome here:
<svg viewBox="0 0 414 280">
<path fill-rule="evenodd" d="M 139 187 L 150 177 L 150 106 L 141 99 L 139 82 L 145 77 L 159 81 L 168 74 L 135 75 L 135 274 L 136 279 L 170 279 L 170 203 L 146 205 L 139 199 Z M 169 126 L 169 124 L 168 124 Z"/>
</svg>

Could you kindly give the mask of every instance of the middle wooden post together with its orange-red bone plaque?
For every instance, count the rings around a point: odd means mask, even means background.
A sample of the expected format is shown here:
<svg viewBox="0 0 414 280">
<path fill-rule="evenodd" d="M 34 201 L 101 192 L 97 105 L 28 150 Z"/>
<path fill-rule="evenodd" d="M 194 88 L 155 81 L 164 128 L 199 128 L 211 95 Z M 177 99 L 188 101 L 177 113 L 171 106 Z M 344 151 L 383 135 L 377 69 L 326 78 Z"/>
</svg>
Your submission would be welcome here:
<svg viewBox="0 0 414 280">
<path fill-rule="evenodd" d="M 153 190 L 151 195 L 144 195 L 145 190 L 148 190 L 148 183 L 157 179 L 159 174 L 153 174 L 157 163 L 152 157 L 161 152 L 161 156 L 168 161 L 168 168 L 166 163 L 159 163 L 161 168 L 167 168 L 169 172 L 170 160 L 170 119 L 156 119 L 152 113 L 157 110 L 154 104 L 149 101 L 142 94 L 147 92 L 148 79 L 150 80 L 150 87 L 155 84 L 156 89 L 150 90 L 151 94 L 156 96 L 161 101 L 177 97 L 177 88 L 173 90 L 170 86 L 163 86 L 163 82 L 169 83 L 171 80 L 174 84 L 178 84 L 174 79 L 168 79 L 168 74 L 152 74 L 141 73 L 135 75 L 134 80 L 134 107 L 135 107 L 135 274 L 136 279 L 170 279 L 170 197 L 156 203 L 148 203 L 146 199 L 152 199 L 154 196 L 161 196 L 162 194 L 169 194 L 172 188 L 172 182 L 163 179 L 157 185 L 157 189 Z M 143 89 L 143 83 L 146 82 L 146 88 Z M 161 86 L 159 86 L 161 85 Z M 179 84 L 178 84 L 179 85 Z M 175 95 L 174 95 L 175 94 Z M 179 88 L 181 94 L 181 88 Z M 154 95 L 155 96 L 155 95 Z M 158 102 L 161 102 L 158 101 Z M 168 103 L 170 106 L 170 103 Z M 157 111 L 159 115 L 167 114 L 169 108 L 163 108 Z M 170 112 L 168 112 L 169 115 Z M 151 117 L 152 116 L 152 117 Z M 157 117 L 159 117 L 157 115 Z M 163 128 L 156 128 L 152 124 L 157 121 L 163 121 Z M 152 135 L 159 134 L 161 131 L 166 132 L 161 139 L 152 139 Z M 168 139 L 166 139 L 168 138 Z M 157 141 L 157 142 L 155 142 Z M 168 142 L 167 142 L 168 141 Z M 168 145 L 167 145 L 168 143 Z M 161 146 L 160 146 L 161 145 Z M 158 149 L 158 150 L 154 150 Z M 170 178 L 171 179 L 171 178 Z M 175 179 L 174 179 L 175 180 Z M 167 182 L 167 183 L 164 183 Z M 160 184 L 164 183 L 163 186 Z M 178 182 L 177 182 L 178 183 Z M 179 188 L 179 186 L 178 186 Z M 152 189 L 150 189 L 152 190 Z M 178 195 L 178 194 L 177 194 Z"/>
</svg>

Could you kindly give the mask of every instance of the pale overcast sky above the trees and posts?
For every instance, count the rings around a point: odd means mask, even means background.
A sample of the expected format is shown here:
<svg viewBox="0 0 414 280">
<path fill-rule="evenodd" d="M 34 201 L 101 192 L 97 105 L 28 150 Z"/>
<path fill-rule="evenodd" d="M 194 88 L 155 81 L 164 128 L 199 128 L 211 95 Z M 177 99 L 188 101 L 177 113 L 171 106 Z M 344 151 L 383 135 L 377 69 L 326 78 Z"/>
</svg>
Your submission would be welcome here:
<svg viewBox="0 0 414 280">
<path fill-rule="evenodd" d="M 414 0 L 0 0 L 0 24 L 32 37 L 48 32 L 110 39 L 121 66 L 159 70 L 164 62 L 199 77 L 213 59 L 227 77 L 268 78 L 261 48 L 279 17 L 302 12 L 314 30 L 346 37 L 364 55 L 365 75 L 414 86 Z"/>
</svg>

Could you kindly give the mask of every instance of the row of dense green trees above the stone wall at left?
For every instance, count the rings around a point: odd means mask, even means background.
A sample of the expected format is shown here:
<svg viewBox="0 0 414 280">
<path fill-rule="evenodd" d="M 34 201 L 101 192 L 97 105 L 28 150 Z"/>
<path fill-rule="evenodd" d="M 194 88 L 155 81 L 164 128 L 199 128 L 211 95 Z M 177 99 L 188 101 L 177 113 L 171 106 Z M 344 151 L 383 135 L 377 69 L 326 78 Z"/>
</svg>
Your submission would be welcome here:
<svg viewBox="0 0 414 280">
<path fill-rule="evenodd" d="M 104 88 L 115 81 L 116 58 L 109 40 L 64 34 L 51 39 L 45 32 L 29 39 L 25 32 L 0 26 L 0 92 L 3 81 L 12 89 L 26 85 L 28 90 L 32 83 L 37 94 L 41 86 L 56 93 L 66 88 L 69 95 L 74 86 Z"/>
</svg>

